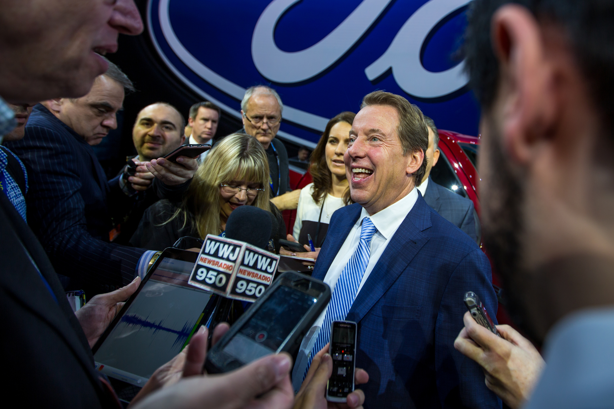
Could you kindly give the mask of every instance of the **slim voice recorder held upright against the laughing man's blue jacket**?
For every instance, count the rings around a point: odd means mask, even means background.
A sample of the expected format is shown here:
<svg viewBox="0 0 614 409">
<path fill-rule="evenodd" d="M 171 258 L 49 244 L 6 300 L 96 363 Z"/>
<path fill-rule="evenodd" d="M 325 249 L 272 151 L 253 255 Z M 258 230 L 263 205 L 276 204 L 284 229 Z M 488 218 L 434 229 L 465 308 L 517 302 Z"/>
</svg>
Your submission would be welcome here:
<svg viewBox="0 0 614 409">
<path fill-rule="evenodd" d="M 328 402 L 347 402 L 348 394 L 354 392 L 356 332 L 356 322 L 333 321 L 330 325 L 328 353 L 333 358 L 333 373 L 326 388 Z"/>
</svg>

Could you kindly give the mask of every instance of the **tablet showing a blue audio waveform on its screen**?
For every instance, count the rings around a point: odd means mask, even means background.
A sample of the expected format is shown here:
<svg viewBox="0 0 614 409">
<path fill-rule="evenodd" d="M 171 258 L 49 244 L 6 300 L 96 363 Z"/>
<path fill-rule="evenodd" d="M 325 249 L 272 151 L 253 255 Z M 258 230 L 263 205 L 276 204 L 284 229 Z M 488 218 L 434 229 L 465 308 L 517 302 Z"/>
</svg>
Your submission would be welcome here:
<svg viewBox="0 0 614 409">
<path fill-rule="evenodd" d="M 199 325 L 207 324 L 212 293 L 188 284 L 196 257 L 196 252 L 173 248 L 162 252 L 92 348 L 97 370 L 143 386 L 187 345 Z"/>
</svg>

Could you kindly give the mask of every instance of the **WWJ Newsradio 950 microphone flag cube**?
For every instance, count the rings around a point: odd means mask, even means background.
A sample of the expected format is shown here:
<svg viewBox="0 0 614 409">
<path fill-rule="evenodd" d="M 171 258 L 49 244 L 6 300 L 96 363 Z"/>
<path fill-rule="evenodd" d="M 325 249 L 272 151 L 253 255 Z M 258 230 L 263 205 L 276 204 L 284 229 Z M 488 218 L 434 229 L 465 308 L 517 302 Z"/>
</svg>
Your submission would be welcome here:
<svg viewBox="0 0 614 409">
<path fill-rule="evenodd" d="M 207 235 L 188 281 L 223 297 L 251 301 L 273 282 L 279 255 L 244 241 Z"/>
</svg>

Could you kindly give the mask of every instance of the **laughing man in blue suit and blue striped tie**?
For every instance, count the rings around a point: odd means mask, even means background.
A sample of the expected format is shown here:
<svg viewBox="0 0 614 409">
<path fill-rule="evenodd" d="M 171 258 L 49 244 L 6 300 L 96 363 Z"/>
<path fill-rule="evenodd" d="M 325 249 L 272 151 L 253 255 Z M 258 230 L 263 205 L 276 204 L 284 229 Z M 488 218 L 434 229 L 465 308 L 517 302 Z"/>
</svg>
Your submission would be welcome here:
<svg viewBox="0 0 614 409">
<path fill-rule="evenodd" d="M 428 144 L 418 107 L 387 92 L 365 96 L 344 155 L 356 203 L 333 214 L 313 271 L 332 300 L 293 375 L 328 343 L 330 323 L 345 319 L 358 323 L 356 365 L 370 375 L 365 408 L 500 408 L 480 367 L 454 349 L 465 292 L 492 317 L 497 298 L 484 253 L 416 189 Z"/>
</svg>

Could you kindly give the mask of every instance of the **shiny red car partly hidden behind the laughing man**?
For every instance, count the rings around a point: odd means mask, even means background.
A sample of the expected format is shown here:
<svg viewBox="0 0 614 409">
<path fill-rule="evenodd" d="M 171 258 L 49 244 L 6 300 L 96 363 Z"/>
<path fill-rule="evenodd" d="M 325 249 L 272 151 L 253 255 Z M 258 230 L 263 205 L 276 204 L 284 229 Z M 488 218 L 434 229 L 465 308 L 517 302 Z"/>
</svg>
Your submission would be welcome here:
<svg viewBox="0 0 614 409">
<path fill-rule="evenodd" d="M 473 201 L 475 210 L 480 216 L 480 193 L 478 192 L 480 176 L 477 171 L 480 137 L 439 130 L 439 150 L 441 154 L 437 165 L 433 166 L 430 171 L 430 177 L 435 183 Z M 293 189 L 302 189 L 311 182 L 311 175 L 308 171 L 290 164 L 290 186 Z M 284 211 L 284 220 L 289 234 L 292 234 L 296 214 L 295 210 Z M 478 232 L 479 236 L 481 236 L 481 232 Z M 480 247 L 486 252 L 481 244 Z M 486 255 L 488 255 L 488 252 L 486 252 Z M 495 273 L 492 275 L 492 283 L 499 293 L 500 280 Z M 511 320 L 502 305 L 499 305 L 497 321 L 499 321 L 499 324 L 511 324 Z"/>
</svg>

